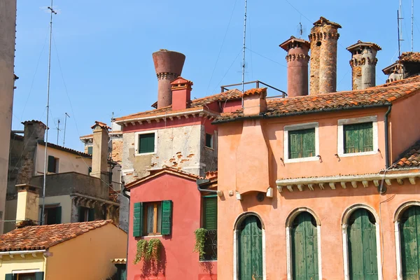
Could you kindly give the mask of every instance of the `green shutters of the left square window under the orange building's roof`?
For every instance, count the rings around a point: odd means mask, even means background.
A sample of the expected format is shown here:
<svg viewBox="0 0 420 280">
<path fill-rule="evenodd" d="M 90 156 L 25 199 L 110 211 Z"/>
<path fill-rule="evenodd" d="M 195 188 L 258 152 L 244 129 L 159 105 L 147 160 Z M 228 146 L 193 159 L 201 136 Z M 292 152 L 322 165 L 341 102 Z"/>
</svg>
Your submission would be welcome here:
<svg viewBox="0 0 420 280">
<path fill-rule="evenodd" d="M 288 158 L 309 158 L 315 156 L 315 128 L 291 130 L 288 132 Z"/>
</svg>

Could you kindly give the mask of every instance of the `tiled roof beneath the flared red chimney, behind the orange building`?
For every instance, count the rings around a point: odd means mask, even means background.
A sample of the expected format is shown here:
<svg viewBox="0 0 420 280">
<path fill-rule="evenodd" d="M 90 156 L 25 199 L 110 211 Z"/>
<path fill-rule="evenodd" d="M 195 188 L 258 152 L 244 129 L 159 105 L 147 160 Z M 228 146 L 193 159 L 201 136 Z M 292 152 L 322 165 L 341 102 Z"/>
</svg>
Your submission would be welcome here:
<svg viewBox="0 0 420 280">
<path fill-rule="evenodd" d="M 210 95 L 208 97 L 203 97 L 203 98 L 199 98 L 199 99 L 193 99 L 191 101 L 191 108 L 197 108 L 200 106 L 205 106 L 207 104 L 210 104 L 212 102 L 217 102 L 217 101 L 225 101 L 228 99 L 237 99 L 237 98 L 241 98 L 242 97 L 242 92 L 240 90 L 234 89 L 234 90 L 228 90 L 226 92 L 221 92 L 218 94 L 214 94 L 214 95 Z M 188 108 L 190 109 L 190 108 Z M 188 109 L 184 110 L 184 111 L 188 111 Z M 159 113 L 165 113 L 165 112 L 170 112 L 172 111 L 172 106 L 166 106 L 166 107 L 162 107 L 160 109 L 155 109 L 155 110 L 150 110 L 150 111 L 144 111 L 144 112 L 140 112 L 140 113 L 134 113 L 132 115 L 128 115 L 128 116 L 123 116 L 120 118 L 116 118 L 115 120 L 121 121 L 121 120 L 130 120 L 133 118 L 143 118 L 143 117 L 148 117 L 148 116 L 156 116 Z"/>
</svg>

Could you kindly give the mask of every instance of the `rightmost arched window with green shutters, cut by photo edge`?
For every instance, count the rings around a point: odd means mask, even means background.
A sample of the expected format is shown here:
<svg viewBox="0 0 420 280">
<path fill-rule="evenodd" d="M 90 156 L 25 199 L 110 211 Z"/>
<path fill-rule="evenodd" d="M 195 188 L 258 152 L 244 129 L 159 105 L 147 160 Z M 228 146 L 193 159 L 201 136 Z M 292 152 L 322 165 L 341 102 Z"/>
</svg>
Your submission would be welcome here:
<svg viewBox="0 0 420 280">
<path fill-rule="evenodd" d="M 398 279 L 420 279 L 420 202 L 407 202 L 395 215 Z"/>
</svg>

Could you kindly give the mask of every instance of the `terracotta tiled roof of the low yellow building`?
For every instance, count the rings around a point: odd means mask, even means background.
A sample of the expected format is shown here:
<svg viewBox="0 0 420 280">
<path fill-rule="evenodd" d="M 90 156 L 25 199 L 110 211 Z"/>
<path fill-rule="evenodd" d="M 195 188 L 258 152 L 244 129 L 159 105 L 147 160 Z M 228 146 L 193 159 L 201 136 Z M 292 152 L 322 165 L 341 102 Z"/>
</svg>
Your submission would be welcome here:
<svg viewBox="0 0 420 280">
<path fill-rule="evenodd" d="M 0 251 L 47 249 L 109 223 L 112 223 L 112 220 L 18 228 L 5 235 L 0 235 Z"/>
</svg>

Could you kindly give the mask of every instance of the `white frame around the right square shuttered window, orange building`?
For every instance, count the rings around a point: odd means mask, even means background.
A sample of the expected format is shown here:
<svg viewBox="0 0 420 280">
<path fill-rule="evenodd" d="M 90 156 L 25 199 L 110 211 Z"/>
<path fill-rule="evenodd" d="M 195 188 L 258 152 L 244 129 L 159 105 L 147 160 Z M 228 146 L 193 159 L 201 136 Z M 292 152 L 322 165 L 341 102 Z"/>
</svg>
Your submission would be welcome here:
<svg viewBox="0 0 420 280">
<path fill-rule="evenodd" d="M 373 151 L 360 153 L 344 153 L 344 125 L 354 125 L 356 123 L 372 123 Z M 378 117 L 368 116 L 361 118 L 346 118 L 338 120 L 337 125 L 337 154 L 341 157 L 353 157 L 358 155 L 374 155 L 378 152 Z"/>
</svg>

